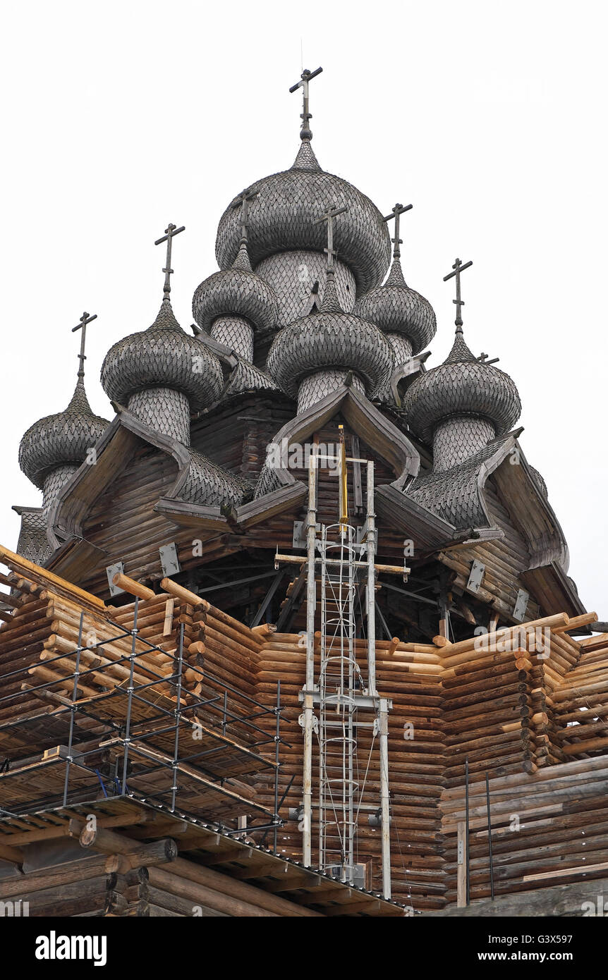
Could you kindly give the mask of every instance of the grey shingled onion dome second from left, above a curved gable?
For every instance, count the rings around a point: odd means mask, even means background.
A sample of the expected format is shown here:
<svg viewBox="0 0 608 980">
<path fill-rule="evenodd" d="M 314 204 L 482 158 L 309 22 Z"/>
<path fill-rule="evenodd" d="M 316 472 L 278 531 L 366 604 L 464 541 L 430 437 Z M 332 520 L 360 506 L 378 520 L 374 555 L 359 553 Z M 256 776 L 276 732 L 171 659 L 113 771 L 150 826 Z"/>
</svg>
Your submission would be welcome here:
<svg viewBox="0 0 608 980">
<path fill-rule="evenodd" d="M 217 401 L 223 385 L 218 358 L 179 326 L 169 299 L 147 330 L 114 344 L 101 368 L 109 398 L 122 405 L 146 388 L 171 388 L 186 395 L 193 412 Z"/>
</svg>

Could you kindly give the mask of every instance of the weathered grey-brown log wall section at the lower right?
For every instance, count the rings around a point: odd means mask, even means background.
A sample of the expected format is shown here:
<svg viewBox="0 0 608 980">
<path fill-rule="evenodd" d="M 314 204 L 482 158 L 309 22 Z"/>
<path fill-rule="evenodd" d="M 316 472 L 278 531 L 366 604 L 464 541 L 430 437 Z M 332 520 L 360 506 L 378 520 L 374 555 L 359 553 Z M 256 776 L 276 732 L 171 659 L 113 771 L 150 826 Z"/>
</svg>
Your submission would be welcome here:
<svg viewBox="0 0 608 980">
<path fill-rule="evenodd" d="M 497 896 L 605 877 L 608 869 L 608 759 L 573 760 L 529 774 L 489 780 L 493 880 Z M 441 798 L 447 896 L 464 905 L 466 848 L 464 787 Z M 485 784 L 472 783 L 471 898 L 490 895 Z"/>
</svg>

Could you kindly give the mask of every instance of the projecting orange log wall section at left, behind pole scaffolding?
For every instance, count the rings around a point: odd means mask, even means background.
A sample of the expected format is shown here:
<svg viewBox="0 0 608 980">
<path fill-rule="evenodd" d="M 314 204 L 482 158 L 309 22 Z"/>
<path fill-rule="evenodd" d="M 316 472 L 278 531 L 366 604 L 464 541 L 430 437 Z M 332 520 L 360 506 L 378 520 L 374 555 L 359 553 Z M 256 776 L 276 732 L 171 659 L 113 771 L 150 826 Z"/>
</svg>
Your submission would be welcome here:
<svg viewBox="0 0 608 980">
<path fill-rule="evenodd" d="M 0 775 L 2 805 L 27 809 L 61 799 L 69 742 L 70 799 L 106 792 L 112 771 L 124 770 L 128 717 L 131 791 L 166 802 L 175 773 L 184 806 L 219 819 L 249 809 L 266 815 L 253 800 L 250 773 L 269 763 L 245 748 L 264 732 L 243 718 L 252 714 L 251 661 L 267 628 L 250 630 L 173 582 L 167 582 L 171 592 L 155 595 L 122 577 L 141 596 L 136 620 L 134 603 L 112 610 L 95 597 L 72 598 L 69 587 L 47 582 L 46 588 L 30 583 L 35 594 L 27 587 L 27 601 L 3 624 L 6 709 L 0 744 L 10 771 Z M 24 651 L 24 637 L 32 634 L 37 642 Z M 207 658 L 219 676 L 206 671 Z M 199 769 L 198 757 L 207 756 Z M 224 781 L 221 792 L 218 780 Z"/>
</svg>

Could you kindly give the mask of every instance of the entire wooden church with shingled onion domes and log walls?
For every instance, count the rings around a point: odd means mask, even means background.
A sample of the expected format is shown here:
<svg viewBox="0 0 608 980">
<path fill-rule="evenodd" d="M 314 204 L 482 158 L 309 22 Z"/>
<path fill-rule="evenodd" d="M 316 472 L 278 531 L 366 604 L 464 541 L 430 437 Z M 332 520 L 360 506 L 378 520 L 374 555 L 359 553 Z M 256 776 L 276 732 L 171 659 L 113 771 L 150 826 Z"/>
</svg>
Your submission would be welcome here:
<svg viewBox="0 0 608 980">
<path fill-rule="evenodd" d="M 84 314 L 74 396 L 23 437 L 0 897 L 30 914 L 558 914 L 564 884 L 576 914 L 608 871 L 608 627 L 515 381 L 467 345 L 472 264 L 428 369 L 410 206 L 322 169 L 320 72 L 293 164 L 220 218 L 191 328 L 170 224 L 156 319 L 103 363 L 112 419 Z"/>
</svg>

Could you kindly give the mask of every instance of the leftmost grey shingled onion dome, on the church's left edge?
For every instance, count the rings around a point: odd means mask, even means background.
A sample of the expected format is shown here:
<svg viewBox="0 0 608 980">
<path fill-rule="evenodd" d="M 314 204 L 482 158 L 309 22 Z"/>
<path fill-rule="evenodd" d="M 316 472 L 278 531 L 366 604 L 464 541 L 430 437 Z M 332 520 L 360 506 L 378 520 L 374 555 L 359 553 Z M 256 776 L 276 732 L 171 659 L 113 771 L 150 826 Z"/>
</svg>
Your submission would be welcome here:
<svg viewBox="0 0 608 980">
<path fill-rule="evenodd" d="M 78 371 L 76 389 L 65 412 L 34 422 L 21 441 L 19 465 L 38 489 L 45 478 L 61 466 L 80 466 L 109 422 L 91 411 L 84 391 L 83 371 Z"/>
</svg>

